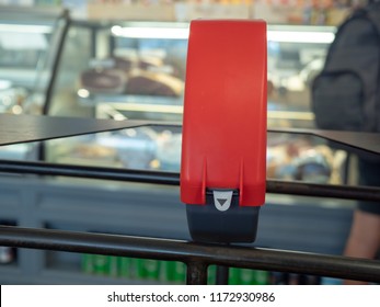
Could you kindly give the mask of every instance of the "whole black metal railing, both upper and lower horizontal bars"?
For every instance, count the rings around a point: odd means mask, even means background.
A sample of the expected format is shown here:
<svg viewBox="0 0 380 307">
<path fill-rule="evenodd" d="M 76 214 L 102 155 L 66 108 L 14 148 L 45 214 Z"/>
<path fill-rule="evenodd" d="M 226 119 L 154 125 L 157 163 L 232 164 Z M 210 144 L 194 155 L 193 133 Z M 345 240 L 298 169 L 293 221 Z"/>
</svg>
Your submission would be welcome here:
<svg viewBox="0 0 380 307">
<path fill-rule="evenodd" d="M 0 161 L 0 171 L 169 185 L 177 185 L 180 183 L 177 173 L 130 171 L 27 161 L 2 160 Z M 380 201 L 380 189 L 364 186 L 324 185 L 268 180 L 267 192 Z M 0 226 L 0 246 L 182 261 L 187 265 L 187 284 L 206 284 L 207 268 L 210 264 L 217 264 L 219 268 L 235 266 L 380 282 L 379 261 L 244 246 L 204 245 L 158 238 L 32 229 L 13 226 Z"/>
</svg>

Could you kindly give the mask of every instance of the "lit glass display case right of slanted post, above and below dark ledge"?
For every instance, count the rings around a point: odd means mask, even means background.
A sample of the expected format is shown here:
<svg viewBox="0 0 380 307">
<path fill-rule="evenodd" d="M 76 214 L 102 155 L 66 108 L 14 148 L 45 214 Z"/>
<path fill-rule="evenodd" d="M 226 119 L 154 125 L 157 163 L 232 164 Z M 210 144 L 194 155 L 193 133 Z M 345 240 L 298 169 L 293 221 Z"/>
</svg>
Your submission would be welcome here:
<svg viewBox="0 0 380 307">
<path fill-rule="evenodd" d="M 334 31 L 268 25 L 268 127 L 314 127 L 310 84 Z M 49 114 L 181 123 L 187 36 L 188 23 L 72 22 Z M 179 171 L 181 129 L 128 129 L 50 141 L 46 148 L 51 162 Z M 343 180 L 344 152 L 308 137 L 269 134 L 267 159 L 269 178 Z M 300 169 L 312 171 L 302 175 Z"/>
</svg>

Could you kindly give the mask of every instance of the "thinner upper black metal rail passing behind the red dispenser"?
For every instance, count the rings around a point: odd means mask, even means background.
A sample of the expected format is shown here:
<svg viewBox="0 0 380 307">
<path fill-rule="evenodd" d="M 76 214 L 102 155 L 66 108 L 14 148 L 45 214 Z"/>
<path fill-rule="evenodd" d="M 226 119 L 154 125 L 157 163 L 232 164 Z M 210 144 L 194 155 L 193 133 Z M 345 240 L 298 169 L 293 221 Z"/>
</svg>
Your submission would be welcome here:
<svg viewBox="0 0 380 307">
<path fill-rule="evenodd" d="M 0 172 L 64 175 L 180 185 L 180 174 L 173 172 L 138 171 L 116 168 L 55 164 L 46 162 L 0 160 Z M 266 192 L 276 194 L 380 202 L 380 189 L 370 186 L 331 185 L 267 180 Z"/>
</svg>

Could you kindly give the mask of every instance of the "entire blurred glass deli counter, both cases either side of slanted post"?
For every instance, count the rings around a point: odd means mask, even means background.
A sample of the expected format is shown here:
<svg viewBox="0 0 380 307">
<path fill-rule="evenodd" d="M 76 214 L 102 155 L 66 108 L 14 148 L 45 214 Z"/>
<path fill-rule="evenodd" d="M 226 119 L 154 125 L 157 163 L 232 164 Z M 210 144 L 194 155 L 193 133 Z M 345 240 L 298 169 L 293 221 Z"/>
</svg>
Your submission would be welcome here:
<svg viewBox="0 0 380 307">
<path fill-rule="evenodd" d="M 1 16 L 1 112 L 181 123 L 188 23 L 79 21 L 62 13 L 26 19 L 4 11 Z M 314 127 L 310 86 L 334 32 L 268 25 L 269 128 Z M 2 156 L 16 157 L 19 150 L 21 159 L 179 171 L 181 128 L 143 127 L 21 147 L 3 147 Z M 268 178 L 346 181 L 346 152 L 323 140 L 269 134 L 267 149 Z"/>
</svg>

